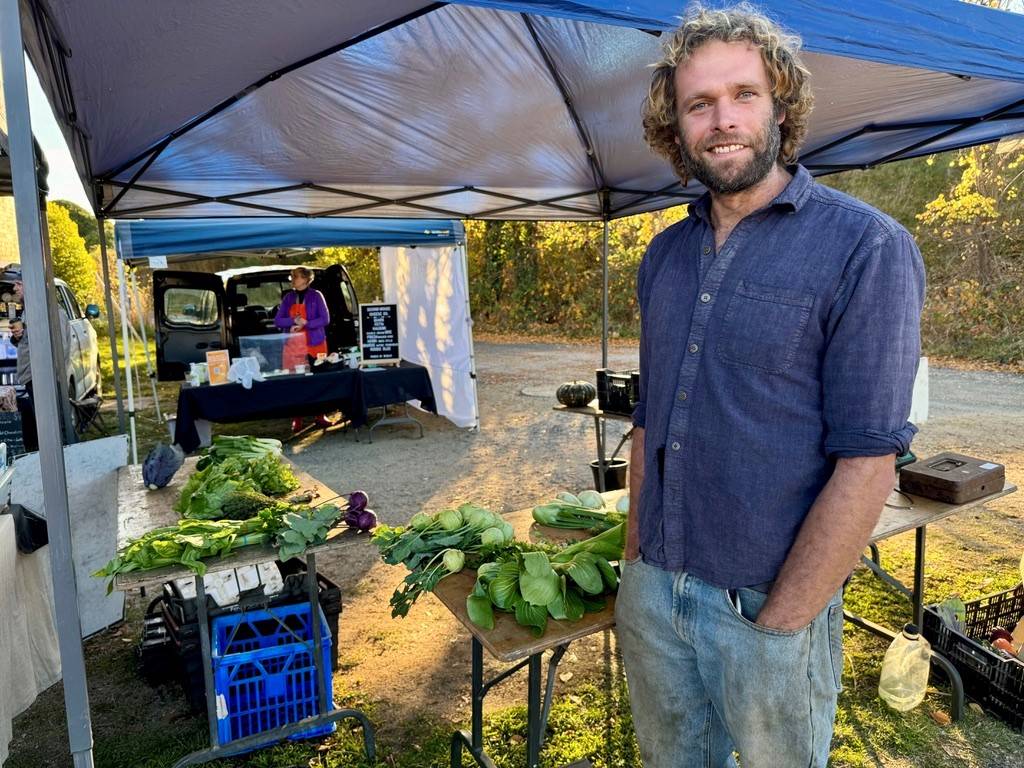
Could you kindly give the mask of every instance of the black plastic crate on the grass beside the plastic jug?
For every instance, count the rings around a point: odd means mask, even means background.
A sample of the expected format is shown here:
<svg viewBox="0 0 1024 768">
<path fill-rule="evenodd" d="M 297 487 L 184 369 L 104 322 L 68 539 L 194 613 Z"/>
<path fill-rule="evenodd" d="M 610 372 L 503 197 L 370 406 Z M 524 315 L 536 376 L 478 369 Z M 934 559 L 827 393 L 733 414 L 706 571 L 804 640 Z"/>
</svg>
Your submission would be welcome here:
<svg viewBox="0 0 1024 768">
<path fill-rule="evenodd" d="M 935 605 L 925 606 L 925 638 L 956 667 L 968 697 L 1024 732 L 1024 663 L 999 655 L 986 642 L 996 627 L 1013 631 L 1024 616 L 1024 585 L 966 605 L 965 633 L 946 627 Z"/>
</svg>

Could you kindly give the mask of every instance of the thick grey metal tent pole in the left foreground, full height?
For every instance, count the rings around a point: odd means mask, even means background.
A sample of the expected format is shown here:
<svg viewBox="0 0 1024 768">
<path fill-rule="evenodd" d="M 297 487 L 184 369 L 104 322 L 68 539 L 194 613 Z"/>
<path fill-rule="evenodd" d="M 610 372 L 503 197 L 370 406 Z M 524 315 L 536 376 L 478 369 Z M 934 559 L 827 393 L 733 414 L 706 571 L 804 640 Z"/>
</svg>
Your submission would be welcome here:
<svg viewBox="0 0 1024 768">
<path fill-rule="evenodd" d="M 36 179 L 32 121 L 29 115 L 29 86 L 22 40 L 18 0 L 0 0 L 0 61 L 3 91 L 7 106 L 10 141 L 11 179 L 14 187 L 18 249 L 25 280 L 28 326 L 37 339 L 54 338 L 50 318 L 55 316 L 52 262 L 43 251 L 39 188 Z M 56 337 L 59 341 L 59 336 Z M 92 723 L 89 690 L 82 650 L 82 624 L 79 618 L 78 589 L 72 557 L 71 515 L 68 504 L 68 479 L 65 474 L 63 446 L 60 440 L 60 417 L 56 408 L 39 403 L 57 403 L 57 366 L 52 343 L 30 347 L 34 369 L 36 419 L 39 432 L 39 466 L 42 475 L 43 504 L 49 531 L 50 571 L 57 643 L 63 677 L 65 711 L 68 738 L 75 768 L 92 768 Z M 61 365 L 63 356 L 61 354 Z M 63 376 L 60 377 L 61 379 Z"/>
</svg>

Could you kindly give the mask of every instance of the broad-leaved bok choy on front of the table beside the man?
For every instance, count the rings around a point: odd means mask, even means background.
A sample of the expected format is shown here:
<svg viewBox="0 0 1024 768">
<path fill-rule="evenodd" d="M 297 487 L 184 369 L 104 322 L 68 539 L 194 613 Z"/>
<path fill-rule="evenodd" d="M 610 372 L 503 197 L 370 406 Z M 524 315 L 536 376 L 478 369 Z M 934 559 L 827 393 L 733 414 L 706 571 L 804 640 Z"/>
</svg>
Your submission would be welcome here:
<svg viewBox="0 0 1024 768">
<path fill-rule="evenodd" d="M 577 621 L 604 607 L 603 596 L 614 592 L 622 559 L 625 524 L 565 547 L 556 554 L 510 550 L 480 564 L 476 584 L 466 598 L 466 612 L 477 627 L 495 628 L 495 608 L 515 615 L 540 637 L 548 616 Z"/>
</svg>

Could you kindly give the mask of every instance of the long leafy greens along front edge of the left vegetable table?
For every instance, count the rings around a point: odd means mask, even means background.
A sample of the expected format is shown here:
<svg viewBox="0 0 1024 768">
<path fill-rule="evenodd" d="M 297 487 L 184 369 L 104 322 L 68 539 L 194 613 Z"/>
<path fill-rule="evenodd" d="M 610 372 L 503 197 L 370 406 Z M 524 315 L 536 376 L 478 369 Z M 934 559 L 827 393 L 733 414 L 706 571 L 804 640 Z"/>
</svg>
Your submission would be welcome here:
<svg viewBox="0 0 1024 768">
<path fill-rule="evenodd" d="M 284 515 L 265 510 L 248 520 L 183 519 L 130 541 L 93 575 L 114 577 L 168 565 L 184 565 L 203 575 L 206 565 L 202 558 L 225 557 L 242 547 L 259 544 L 278 547 L 278 557 L 288 560 L 326 542 L 342 514 L 338 507 L 324 505 L 295 507 Z"/>
</svg>

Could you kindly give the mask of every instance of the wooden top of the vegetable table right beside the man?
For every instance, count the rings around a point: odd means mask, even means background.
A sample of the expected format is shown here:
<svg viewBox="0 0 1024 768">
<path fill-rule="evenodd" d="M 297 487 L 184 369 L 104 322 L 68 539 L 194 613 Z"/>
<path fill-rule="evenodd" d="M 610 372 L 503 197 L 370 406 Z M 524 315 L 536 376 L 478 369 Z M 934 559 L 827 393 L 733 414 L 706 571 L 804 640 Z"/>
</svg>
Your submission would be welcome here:
<svg viewBox="0 0 1024 768">
<path fill-rule="evenodd" d="M 605 504 L 613 505 L 614 500 L 624 493 L 612 490 L 605 494 Z M 534 522 L 532 511 L 534 508 L 530 507 L 503 515 L 512 524 L 517 539 L 527 539 L 531 542 L 572 542 L 589 538 L 584 530 L 564 530 L 538 525 Z M 517 624 L 512 613 L 506 613 L 498 608 L 495 608 L 495 628 L 483 630 L 473 624 L 466 612 L 466 597 L 473 591 L 475 583 L 475 570 L 462 570 L 441 580 L 434 589 L 434 595 L 473 637 L 501 662 L 525 658 L 548 648 L 610 629 L 615 625 L 615 597 L 607 595 L 604 608 L 593 613 L 585 613 L 579 622 L 559 622 L 548 616 L 548 628 L 541 637 L 535 637 L 528 627 Z"/>
</svg>

